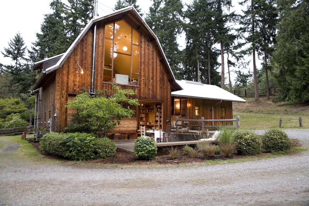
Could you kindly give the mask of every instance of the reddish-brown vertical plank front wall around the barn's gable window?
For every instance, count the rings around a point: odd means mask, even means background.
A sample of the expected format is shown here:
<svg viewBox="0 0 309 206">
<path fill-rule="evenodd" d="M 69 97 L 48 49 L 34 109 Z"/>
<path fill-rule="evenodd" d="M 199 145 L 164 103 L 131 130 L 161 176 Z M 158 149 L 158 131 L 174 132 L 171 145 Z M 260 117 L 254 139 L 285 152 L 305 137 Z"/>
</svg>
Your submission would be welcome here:
<svg viewBox="0 0 309 206">
<path fill-rule="evenodd" d="M 71 55 L 66 59 L 63 66 L 56 70 L 56 131 L 62 131 L 67 125 L 68 94 L 77 94 L 83 86 L 91 86 L 92 51 L 93 51 L 93 27 L 85 34 L 77 44 Z M 133 96 L 140 100 L 163 101 L 163 124 L 170 119 L 171 114 L 171 85 L 160 60 L 162 56 L 155 50 L 155 41 L 151 41 L 146 35 L 140 34 L 140 86 L 123 86 L 122 89 L 133 89 L 137 94 Z M 112 89 L 112 85 L 104 83 L 103 62 L 104 60 L 104 23 L 97 23 L 96 41 L 96 73 L 95 89 Z M 77 65 L 84 69 L 84 74 Z M 165 125 L 162 125 L 163 128 Z"/>
</svg>

